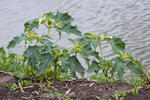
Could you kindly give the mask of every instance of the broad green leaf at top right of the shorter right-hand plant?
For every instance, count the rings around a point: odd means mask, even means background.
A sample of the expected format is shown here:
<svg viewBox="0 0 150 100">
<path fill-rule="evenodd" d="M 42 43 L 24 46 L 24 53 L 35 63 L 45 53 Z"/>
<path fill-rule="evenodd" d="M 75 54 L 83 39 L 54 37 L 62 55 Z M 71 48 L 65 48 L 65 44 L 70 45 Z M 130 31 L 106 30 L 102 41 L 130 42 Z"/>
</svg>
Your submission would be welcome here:
<svg viewBox="0 0 150 100">
<path fill-rule="evenodd" d="M 110 40 L 109 42 L 114 52 L 125 51 L 125 43 L 122 41 L 121 38 L 113 37 L 112 40 Z"/>
</svg>

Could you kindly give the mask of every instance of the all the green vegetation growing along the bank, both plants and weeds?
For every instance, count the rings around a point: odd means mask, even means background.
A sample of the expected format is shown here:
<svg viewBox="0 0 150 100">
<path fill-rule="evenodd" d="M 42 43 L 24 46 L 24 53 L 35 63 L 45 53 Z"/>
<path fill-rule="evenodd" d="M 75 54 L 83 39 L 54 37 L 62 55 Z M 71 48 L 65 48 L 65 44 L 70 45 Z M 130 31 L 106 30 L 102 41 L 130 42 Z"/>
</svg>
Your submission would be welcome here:
<svg viewBox="0 0 150 100">
<path fill-rule="evenodd" d="M 39 80 L 49 82 L 51 80 L 70 80 L 78 78 L 77 73 L 84 77 L 85 73 L 94 73 L 91 80 L 103 82 L 115 82 L 123 80 L 125 69 L 135 73 L 138 78 L 134 80 L 136 86 L 146 86 L 149 83 L 149 75 L 142 70 L 140 61 L 125 52 L 125 43 L 121 38 L 109 36 L 107 33 L 92 34 L 81 32 L 77 26 L 72 25 L 73 18 L 68 13 L 49 12 L 43 14 L 42 18 L 27 21 L 24 24 L 24 33 L 14 37 L 7 48 L 11 49 L 17 44 L 24 42 L 25 51 L 22 55 L 12 52 L 6 53 L 4 48 L 0 48 L 0 70 L 11 72 L 17 78 L 24 80 Z M 45 27 L 46 33 L 39 33 L 41 27 Z M 51 30 L 55 30 L 53 32 Z M 58 33 L 59 39 L 62 34 L 77 35 L 77 39 L 68 39 L 74 44 L 73 48 L 62 48 L 53 42 L 51 34 Z M 106 41 L 112 47 L 116 57 L 107 60 L 103 55 L 102 42 Z M 78 55 L 81 56 L 88 69 L 81 64 Z M 92 58 L 92 59 L 91 59 Z M 140 84 L 140 83 L 143 84 Z M 31 81 L 21 81 L 21 86 L 32 84 Z M 16 84 L 8 84 L 7 87 L 13 90 L 18 89 Z M 51 87 L 51 86 L 50 86 Z M 137 95 L 137 91 L 130 92 Z M 126 92 L 115 92 L 116 100 L 118 96 L 123 98 Z M 54 94 L 57 96 L 59 94 Z M 61 95 L 59 95 L 61 96 Z M 59 97 L 58 96 L 58 97 Z"/>
</svg>

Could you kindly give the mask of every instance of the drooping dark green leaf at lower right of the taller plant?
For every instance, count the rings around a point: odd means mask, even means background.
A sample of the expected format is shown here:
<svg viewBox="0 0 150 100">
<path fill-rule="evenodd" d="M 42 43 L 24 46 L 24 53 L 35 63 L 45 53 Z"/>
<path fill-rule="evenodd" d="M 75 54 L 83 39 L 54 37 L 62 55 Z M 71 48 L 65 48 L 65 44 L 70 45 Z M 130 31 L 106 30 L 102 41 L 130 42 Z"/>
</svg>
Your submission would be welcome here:
<svg viewBox="0 0 150 100">
<path fill-rule="evenodd" d="M 84 74 L 84 67 L 80 64 L 80 62 L 78 61 L 77 57 L 76 56 L 72 56 L 69 58 L 69 68 L 70 70 L 73 72 L 73 71 L 77 71 L 79 72 L 80 74 Z"/>
</svg>

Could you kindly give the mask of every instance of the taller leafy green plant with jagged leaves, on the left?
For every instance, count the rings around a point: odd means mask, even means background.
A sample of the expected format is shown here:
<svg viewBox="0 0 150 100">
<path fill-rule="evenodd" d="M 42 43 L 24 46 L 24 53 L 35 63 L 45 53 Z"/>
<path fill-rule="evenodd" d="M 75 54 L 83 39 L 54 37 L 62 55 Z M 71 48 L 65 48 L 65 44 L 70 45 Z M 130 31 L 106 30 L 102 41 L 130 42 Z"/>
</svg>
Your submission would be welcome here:
<svg viewBox="0 0 150 100">
<path fill-rule="evenodd" d="M 8 44 L 8 49 L 14 47 L 22 40 L 25 41 L 26 50 L 23 53 L 24 62 L 32 70 L 34 77 L 44 79 L 59 79 L 62 73 L 76 72 L 84 74 L 84 68 L 76 57 L 75 48 L 60 48 L 52 42 L 50 30 L 55 29 L 61 37 L 62 32 L 81 36 L 81 32 L 72 25 L 73 18 L 68 13 L 52 12 L 43 14 L 41 19 L 33 19 L 24 24 L 24 34 L 16 36 Z M 41 26 L 47 28 L 47 34 L 39 34 L 37 29 Z"/>
</svg>

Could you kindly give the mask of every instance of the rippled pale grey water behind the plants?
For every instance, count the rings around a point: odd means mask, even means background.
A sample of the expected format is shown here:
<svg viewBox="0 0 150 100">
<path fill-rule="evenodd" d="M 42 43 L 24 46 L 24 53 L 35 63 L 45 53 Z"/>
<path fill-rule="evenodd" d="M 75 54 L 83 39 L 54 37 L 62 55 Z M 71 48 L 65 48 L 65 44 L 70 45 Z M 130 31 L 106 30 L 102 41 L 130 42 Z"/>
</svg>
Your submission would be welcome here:
<svg viewBox="0 0 150 100">
<path fill-rule="evenodd" d="M 0 46 L 21 34 L 25 21 L 57 10 L 69 12 L 83 33 L 122 37 L 127 51 L 144 67 L 150 65 L 150 0 L 0 0 Z M 65 40 L 59 44 L 70 46 Z M 104 55 L 112 57 L 111 49 L 103 47 Z"/>
</svg>

